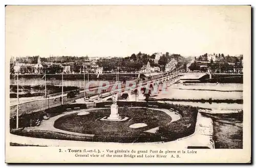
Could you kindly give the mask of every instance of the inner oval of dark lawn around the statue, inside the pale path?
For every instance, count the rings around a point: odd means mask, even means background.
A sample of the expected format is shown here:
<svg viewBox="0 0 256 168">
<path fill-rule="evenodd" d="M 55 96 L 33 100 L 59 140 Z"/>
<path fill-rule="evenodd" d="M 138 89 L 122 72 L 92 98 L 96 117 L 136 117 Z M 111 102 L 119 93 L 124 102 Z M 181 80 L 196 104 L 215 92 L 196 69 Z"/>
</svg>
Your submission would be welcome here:
<svg viewBox="0 0 256 168">
<path fill-rule="evenodd" d="M 118 108 L 120 116 L 129 117 L 124 122 L 99 121 L 97 119 L 109 116 L 110 109 L 90 110 L 90 114 L 79 116 L 77 113 L 66 115 L 57 119 L 54 127 L 66 131 L 94 134 L 106 137 L 137 137 L 150 136 L 146 130 L 166 125 L 172 118 L 163 111 L 148 108 Z M 137 123 L 145 123 L 146 126 L 131 128 Z"/>
</svg>

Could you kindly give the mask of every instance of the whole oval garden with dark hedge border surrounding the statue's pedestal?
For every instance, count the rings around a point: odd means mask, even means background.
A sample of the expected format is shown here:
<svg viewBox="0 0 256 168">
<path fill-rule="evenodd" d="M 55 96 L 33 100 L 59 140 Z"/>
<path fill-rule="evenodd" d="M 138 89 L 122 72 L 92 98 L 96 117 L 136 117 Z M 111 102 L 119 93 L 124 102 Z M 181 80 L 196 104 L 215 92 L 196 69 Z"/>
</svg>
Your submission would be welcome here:
<svg viewBox="0 0 256 168">
<path fill-rule="evenodd" d="M 109 103 L 111 102 L 97 103 L 98 109 L 72 111 L 71 114 L 58 118 L 53 125 L 62 131 L 43 128 L 12 130 L 11 133 L 71 141 L 144 143 L 175 141 L 195 131 L 198 114 L 196 107 L 158 102 L 118 102 L 119 115 L 129 117 L 129 119 L 122 122 L 100 121 L 99 119 L 103 117 L 109 117 L 111 110 L 105 108 L 106 105 L 110 105 Z M 127 107 L 128 105 L 134 107 Z M 65 111 L 67 107 L 78 106 L 84 108 L 84 104 L 69 104 L 61 108 L 50 108 L 48 112 L 54 117 Z M 172 119 L 161 109 L 173 111 L 181 118 Z M 65 133 L 65 131 L 70 132 Z"/>
</svg>

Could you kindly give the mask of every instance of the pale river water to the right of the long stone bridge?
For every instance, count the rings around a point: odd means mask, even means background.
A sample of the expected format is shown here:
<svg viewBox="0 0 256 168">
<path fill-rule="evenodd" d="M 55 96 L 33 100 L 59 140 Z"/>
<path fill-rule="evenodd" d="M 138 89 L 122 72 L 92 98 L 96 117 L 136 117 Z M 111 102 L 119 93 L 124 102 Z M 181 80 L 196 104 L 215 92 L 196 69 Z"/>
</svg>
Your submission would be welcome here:
<svg viewBox="0 0 256 168">
<path fill-rule="evenodd" d="M 156 99 L 183 99 L 183 100 L 242 100 L 242 83 L 176 83 L 167 87 L 166 92 L 160 92 Z M 238 103 L 209 103 L 189 101 L 166 101 L 167 103 L 198 106 L 214 109 L 243 109 L 243 104 Z"/>
</svg>

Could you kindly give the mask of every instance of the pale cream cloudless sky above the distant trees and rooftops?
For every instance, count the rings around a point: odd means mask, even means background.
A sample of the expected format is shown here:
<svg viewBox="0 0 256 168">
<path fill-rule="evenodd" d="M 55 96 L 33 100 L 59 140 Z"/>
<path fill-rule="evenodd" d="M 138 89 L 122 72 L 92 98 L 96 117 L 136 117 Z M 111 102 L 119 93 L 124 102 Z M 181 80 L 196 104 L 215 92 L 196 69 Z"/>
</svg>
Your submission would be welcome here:
<svg viewBox="0 0 256 168">
<path fill-rule="evenodd" d="M 6 56 L 250 54 L 250 6 L 7 6 Z"/>
</svg>

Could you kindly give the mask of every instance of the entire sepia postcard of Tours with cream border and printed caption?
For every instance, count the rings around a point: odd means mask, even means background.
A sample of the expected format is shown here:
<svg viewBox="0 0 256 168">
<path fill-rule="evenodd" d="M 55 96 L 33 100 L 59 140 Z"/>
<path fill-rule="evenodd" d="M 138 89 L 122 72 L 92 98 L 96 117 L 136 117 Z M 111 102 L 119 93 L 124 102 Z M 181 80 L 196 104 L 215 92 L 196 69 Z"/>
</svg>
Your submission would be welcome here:
<svg viewBox="0 0 256 168">
<path fill-rule="evenodd" d="M 250 162 L 251 6 L 5 16 L 6 162 Z"/>
</svg>

